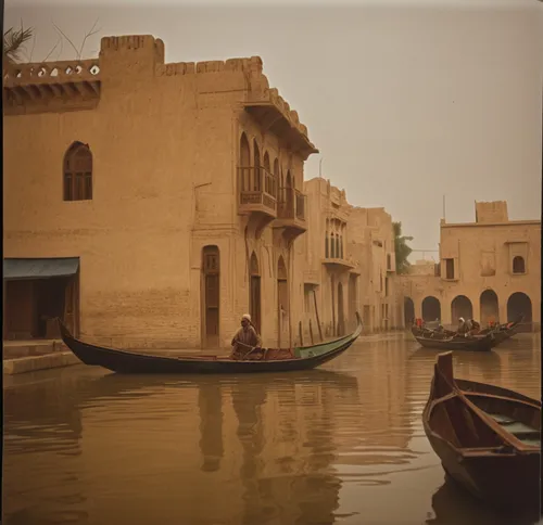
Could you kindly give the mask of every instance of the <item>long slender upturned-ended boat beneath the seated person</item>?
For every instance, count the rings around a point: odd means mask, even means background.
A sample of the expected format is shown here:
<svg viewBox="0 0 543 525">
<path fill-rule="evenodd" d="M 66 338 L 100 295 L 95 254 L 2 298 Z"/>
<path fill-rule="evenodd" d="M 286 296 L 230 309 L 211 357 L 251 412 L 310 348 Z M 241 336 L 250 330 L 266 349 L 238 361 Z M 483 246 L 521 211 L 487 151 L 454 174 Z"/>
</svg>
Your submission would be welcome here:
<svg viewBox="0 0 543 525">
<path fill-rule="evenodd" d="M 295 348 L 262 348 L 243 360 L 219 356 L 163 357 L 116 350 L 91 345 L 75 338 L 59 319 L 64 344 L 85 363 L 119 373 L 256 373 L 289 372 L 318 367 L 345 351 L 362 333 L 362 319 L 350 335 L 314 346 Z"/>
</svg>

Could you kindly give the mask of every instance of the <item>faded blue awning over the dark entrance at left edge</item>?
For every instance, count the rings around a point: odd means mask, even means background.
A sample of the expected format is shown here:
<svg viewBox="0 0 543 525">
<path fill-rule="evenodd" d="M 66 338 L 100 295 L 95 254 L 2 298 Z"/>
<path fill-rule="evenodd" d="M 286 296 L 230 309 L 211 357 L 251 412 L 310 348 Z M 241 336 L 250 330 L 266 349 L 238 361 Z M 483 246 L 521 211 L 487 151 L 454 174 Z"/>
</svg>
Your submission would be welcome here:
<svg viewBox="0 0 543 525">
<path fill-rule="evenodd" d="M 79 257 L 47 259 L 3 259 L 3 278 L 8 280 L 50 279 L 74 276 Z"/>
</svg>

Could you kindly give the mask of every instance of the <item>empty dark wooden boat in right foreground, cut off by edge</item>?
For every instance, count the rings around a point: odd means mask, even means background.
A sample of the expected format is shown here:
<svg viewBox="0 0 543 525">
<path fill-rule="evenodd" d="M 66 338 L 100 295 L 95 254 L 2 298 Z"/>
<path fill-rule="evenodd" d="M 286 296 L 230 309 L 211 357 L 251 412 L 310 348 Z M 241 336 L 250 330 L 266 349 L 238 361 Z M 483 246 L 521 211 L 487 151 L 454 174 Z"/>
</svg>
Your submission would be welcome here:
<svg viewBox="0 0 543 525">
<path fill-rule="evenodd" d="M 446 474 L 472 495 L 496 507 L 539 509 L 540 401 L 455 380 L 449 351 L 438 356 L 422 425 Z"/>
</svg>

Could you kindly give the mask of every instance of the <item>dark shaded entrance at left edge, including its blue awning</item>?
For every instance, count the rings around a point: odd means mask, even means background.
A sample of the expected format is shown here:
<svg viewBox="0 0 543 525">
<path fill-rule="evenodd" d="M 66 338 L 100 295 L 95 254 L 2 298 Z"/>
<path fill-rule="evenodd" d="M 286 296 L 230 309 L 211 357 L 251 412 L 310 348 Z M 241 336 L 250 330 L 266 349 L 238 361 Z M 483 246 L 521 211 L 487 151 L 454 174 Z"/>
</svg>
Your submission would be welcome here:
<svg viewBox="0 0 543 525">
<path fill-rule="evenodd" d="M 79 334 L 79 258 L 4 259 L 4 340 L 60 338 L 56 318 Z"/>
</svg>

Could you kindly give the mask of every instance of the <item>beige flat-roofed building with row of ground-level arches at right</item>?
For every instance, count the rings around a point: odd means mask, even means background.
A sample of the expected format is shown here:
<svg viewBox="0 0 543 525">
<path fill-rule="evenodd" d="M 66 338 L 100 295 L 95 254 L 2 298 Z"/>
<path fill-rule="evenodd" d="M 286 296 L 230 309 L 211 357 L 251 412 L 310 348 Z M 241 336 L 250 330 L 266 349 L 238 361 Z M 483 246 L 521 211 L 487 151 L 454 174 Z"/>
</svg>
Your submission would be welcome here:
<svg viewBox="0 0 543 525">
<path fill-rule="evenodd" d="M 459 317 L 541 323 L 541 221 L 509 220 L 506 202 L 476 203 L 476 221 L 440 225 L 440 262 L 400 276 L 406 324 Z"/>
</svg>

